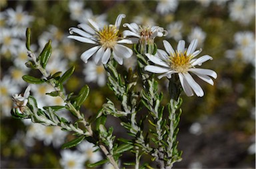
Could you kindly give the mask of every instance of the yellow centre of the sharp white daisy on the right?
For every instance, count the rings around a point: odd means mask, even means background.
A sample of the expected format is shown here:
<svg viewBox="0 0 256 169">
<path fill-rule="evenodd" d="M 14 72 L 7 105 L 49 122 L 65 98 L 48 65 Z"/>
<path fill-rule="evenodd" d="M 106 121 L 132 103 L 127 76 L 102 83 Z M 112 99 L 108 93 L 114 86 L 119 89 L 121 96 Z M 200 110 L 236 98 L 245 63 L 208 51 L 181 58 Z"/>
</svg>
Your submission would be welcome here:
<svg viewBox="0 0 256 169">
<path fill-rule="evenodd" d="M 187 70 L 191 68 L 191 55 L 187 56 L 185 53 L 179 53 L 176 51 L 175 55 L 170 56 L 171 69 L 178 73 L 187 73 Z"/>
</svg>

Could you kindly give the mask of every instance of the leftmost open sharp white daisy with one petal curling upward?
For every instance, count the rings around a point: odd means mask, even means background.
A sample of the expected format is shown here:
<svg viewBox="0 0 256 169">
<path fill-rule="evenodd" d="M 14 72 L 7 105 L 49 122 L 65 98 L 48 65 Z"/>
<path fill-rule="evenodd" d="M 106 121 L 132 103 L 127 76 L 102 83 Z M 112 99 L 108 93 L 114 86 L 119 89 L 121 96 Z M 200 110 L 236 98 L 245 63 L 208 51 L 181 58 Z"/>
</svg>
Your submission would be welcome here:
<svg viewBox="0 0 256 169">
<path fill-rule="evenodd" d="M 126 39 L 120 39 L 118 37 L 121 20 L 124 17 L 124 14 L 118 15 L 115 25 L 105 25 L 104 27 L 100 27 L 99 24 L 95 23 L 91 19 L 88 19 L 91 26 L 83 23 L 78 25 L 78 27 L 83 30 L 75 27 L 71 27 L 69 29 L 69 33 L 77 33 L 80 35 L 70 35 L 68 36 L 69 38 L 83 43 L 91 43 L 96 45 L 81 55 L 81 59 L 85 63 L 87 63 L 90 57 L 94 56 L 95 64 L 106 64 L 111 55 L 113 55 L 115 61 L 117 61 L 119 65 L 123 65 L 123 59 L 131 57 L 133 51 L 128 47 L 120 45 L 120 43 L 129 43 L 129 41 L 126 41 Z"/>
</svg>

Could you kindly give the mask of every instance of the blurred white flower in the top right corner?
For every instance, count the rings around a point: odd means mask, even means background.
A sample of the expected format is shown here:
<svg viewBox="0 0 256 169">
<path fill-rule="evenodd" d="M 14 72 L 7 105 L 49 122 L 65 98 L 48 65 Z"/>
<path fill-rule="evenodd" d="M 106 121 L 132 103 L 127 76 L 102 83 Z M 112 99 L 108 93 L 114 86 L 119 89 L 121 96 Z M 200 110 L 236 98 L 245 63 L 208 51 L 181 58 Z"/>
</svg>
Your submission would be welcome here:
<svg viewBox="0 0 256 169">
<path fill-rule="evenodd" d="M 255 1 L 235 0 L 229 3 L 229 17 L 243 25 L 255 19 Z"/>
</svg>

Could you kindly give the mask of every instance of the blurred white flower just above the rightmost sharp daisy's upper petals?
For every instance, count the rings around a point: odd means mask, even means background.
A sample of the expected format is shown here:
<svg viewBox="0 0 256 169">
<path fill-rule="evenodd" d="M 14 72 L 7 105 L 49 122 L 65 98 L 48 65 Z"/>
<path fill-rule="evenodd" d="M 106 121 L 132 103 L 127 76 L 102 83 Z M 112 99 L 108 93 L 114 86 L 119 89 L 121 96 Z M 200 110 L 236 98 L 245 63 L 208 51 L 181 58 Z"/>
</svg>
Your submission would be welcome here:
<svg viewBox="0 0 256 169">
<path fill-rule="evenodd" d="M 205 42 L 206 33 L 202 31 L 200 27 L 194 27 L 191 33 L 188 35 L 187 40 L 191 43 L 193 39 L 197 39 L 198 47 L 203 47 Z"/>
</svg>

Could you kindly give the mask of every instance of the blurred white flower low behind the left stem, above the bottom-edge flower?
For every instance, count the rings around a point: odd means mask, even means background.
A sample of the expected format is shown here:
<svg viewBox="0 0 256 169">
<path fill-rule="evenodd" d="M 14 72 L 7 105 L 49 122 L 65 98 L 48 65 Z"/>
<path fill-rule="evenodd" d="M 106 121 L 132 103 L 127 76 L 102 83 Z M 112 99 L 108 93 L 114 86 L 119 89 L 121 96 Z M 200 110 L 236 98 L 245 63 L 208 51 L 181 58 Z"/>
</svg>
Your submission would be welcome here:
<svg viewBox="0 0 256 169">
<path fill-rule="evenodd" d="M 101 153 L 99 151 L 96 151 L 99 149 L 98 146 L 95 146 L 91 142 L 83 141 L 77 146 L 77 150 L 81 152 L 81 156 L 85 158 L 85 160 L 89 160 L 90 163 L 99 162 L 102 160 Z"/>
</svg>

